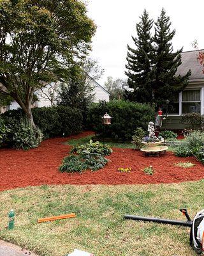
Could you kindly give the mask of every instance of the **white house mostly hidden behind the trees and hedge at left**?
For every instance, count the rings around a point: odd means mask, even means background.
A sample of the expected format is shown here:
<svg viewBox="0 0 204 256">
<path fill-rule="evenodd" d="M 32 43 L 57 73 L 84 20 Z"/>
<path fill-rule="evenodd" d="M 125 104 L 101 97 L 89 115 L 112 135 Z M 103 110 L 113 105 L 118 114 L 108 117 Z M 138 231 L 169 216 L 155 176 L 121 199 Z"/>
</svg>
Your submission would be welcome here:
<svg viewBox="0 0 204 256">
<path fill-rule="evenodd" d="M 109 101 L 109 97 L 110 97 L 110 93 L 108 91 L 105 90 L 105 88 L 103 88 L 103 86 L 101 86 L 98 82 L 96 82 L 94 79 L 92 79 L 92 77 L 89 77 L 90 81 L 89 83 L 91 83 L 91 85 L 94 88 L 93 94 L 94 94 L 94 102 L 99 102 L 99 100 L 106 100 Z M 34 102 L 33 104 L 33 108 L 41 108 L 41 107 L 50 107 L 51 106 L 51 101 L 48 99 L 48 97 L 46 95 L 48 95 L 48 90 L 54 90 L 54 84 L 55 83 L 51 83 L 48 84 L 45 88 L 36 90 L 36 92 L 34 94 L 37 95 L 38 97 L 38 101 Z M 51 88 L 52 86 L 52 88 Z M 20 106 L 18 105 L 18 103 L 16 101 L 11 102 L 10 106 L 7 106 L 6 108 L 4 108 L 5 110 L 8 109 L 17 109 L 20 108 Z M 4 111 L 3 111 L 4 112 Z"/>
</svg>

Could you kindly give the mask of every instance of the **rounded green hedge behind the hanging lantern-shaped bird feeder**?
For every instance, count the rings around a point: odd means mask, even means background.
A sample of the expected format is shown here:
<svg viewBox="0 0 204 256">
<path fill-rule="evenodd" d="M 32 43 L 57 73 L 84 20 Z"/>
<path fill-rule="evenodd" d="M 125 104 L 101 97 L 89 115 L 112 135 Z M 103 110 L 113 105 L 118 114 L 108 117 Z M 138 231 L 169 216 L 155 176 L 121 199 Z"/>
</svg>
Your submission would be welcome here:
<svg viewBox="0 0 204 256">
<path fill-rule="evenodd" d="M 112 116 L 112 124 L 105 127 L 105 137 L 123 141 L 131 141 L 138 127 L 147 131 L 147 125 L 155 119 L 154 108 L 150 104 L 111 100 L 106 102 L 103 110 L 102 102 L 94 103 L 89 108 L 87 124 L 99 136 L 103 134 L 102 115 L 105 112 Z"/>
</svg>

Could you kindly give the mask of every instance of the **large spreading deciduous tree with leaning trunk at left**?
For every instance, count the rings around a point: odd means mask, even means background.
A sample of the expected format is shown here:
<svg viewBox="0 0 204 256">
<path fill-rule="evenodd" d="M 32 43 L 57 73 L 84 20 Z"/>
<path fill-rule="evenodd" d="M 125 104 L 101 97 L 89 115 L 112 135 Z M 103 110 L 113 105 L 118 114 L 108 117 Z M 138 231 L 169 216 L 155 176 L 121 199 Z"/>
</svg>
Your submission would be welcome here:
<svg viewBox="0 0 204 256">
<path fill-rule="evenodd" d="M 91 49 L 95 29 L 82 1 L 1 1 L 0 92 L 17 101 L 34 127 L 34 90 L 66 76 Z"/>
</svg>

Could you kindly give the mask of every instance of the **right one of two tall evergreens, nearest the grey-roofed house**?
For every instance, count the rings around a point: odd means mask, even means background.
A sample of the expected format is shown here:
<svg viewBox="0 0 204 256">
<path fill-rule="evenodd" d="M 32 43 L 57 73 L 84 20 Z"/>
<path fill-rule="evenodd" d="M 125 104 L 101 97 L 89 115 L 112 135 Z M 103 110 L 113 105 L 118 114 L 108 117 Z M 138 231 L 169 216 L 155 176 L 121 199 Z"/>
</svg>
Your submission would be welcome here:
<svg viewBox="0 0 204 256">
<path fill-rule="evenodd" d="M 181 65 L 181 52 L 173 52 L 171 40 L 175 29 L 170 30 L 170 17 L 166 16 L 164 9 L 155 23 L 154 35 L 154 61 L 152 68 L 153 99 L 157 106 L 162 106 L 165 100 L 173 102 L 174 95 L 187 86 L 191 70 L 185 76 L 175 76 L 177 68 Z"/>
</svg>

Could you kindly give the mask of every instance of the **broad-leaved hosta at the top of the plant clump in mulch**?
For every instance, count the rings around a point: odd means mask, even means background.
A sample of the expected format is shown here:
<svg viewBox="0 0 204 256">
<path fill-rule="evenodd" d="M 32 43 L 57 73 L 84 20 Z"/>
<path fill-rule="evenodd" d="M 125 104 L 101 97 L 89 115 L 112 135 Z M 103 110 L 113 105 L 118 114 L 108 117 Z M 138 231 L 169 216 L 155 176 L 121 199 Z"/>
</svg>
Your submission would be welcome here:
<svg viewBox="0 0 204 256">
<path fill-rule="evenodd" d="M 89 143 L 74 147 L 71 150 L 71 153 L 82 154 L 84 150 L 87 150 L 87 152 L 91 154 L 105 154 L 105 156 L 109 156 L 113 152 L 109 145 L 105 144 L 105 147 L 103 148 L 103 144 L 99 143 L 99 141 L 93 142 L 90 140 Z"/>
</svg>

